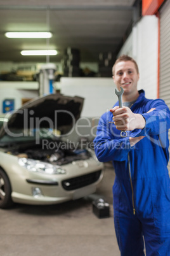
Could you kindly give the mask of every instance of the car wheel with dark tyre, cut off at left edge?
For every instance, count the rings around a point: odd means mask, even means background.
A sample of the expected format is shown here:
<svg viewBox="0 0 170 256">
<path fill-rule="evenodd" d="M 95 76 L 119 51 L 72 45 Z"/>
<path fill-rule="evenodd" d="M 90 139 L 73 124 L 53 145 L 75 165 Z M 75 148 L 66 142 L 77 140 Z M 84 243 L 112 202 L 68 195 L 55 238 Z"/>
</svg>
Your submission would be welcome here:
<svg viewBox="0 0 170 256">
<path fill-rule="evenodd" d="M 0 208 L 9 208 L 12 204 L 10 180 L 3 169 L 0 168 Z"/>
</svg>

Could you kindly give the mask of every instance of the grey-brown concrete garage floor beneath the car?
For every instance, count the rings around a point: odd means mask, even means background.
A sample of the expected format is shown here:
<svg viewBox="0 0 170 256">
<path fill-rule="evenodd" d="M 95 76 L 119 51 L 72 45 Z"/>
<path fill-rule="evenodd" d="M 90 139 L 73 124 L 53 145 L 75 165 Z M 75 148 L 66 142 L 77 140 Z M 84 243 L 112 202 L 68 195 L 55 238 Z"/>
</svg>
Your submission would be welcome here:
<svg viewBox="0 0 170 256">
<path fill-rule="evenodd" d="M 2 256 L 119 256 L 112 209 L 114 169 L 106 164 L 95 195 L 51 206 L 15 204 L 0 210 Z M 110 204 L 110 218 L 97 218 L 92 200 L 98 195 Z"/>
</svg>

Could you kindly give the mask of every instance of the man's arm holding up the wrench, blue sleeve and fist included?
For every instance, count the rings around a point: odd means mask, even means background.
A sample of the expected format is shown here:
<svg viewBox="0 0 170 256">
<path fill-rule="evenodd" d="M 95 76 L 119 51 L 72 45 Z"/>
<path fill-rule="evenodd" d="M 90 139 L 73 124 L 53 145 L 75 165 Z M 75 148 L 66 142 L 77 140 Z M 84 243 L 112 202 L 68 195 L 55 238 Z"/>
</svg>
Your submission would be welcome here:
<svg viewBox="0 0 170 256">
<path fill-rule="evenodd" d="M 150 100 L 147 113 L 135 114 L 128 107 L 110 110 L 118 130 L 130 131 L 130 137 L 154 136 L 170 128 L 170 111 L 162 99 Z M 143 118 L 143 119 L 142 119 Z"/>
</svg>

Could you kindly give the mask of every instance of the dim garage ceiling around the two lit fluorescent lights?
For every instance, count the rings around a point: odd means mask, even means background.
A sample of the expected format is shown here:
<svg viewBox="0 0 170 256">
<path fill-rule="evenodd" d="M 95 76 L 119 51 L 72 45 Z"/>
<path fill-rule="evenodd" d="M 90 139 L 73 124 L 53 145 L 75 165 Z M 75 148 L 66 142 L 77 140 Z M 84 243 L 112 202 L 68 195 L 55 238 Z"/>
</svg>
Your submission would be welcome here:
<svg viewBox="0 0 170 256">
<path fill-rule="evenodd" d="M 15 2 L 15 3 L 14 3 Z M 78 48 L 81 60 L 97 61 L 100 52 L 117 54 L 134 22 L 134 0 L 0 0 L 0 62 L 45 62 L 21 50 Z M 7 31 L 50 31 L 50 39 L 9 39 Z"/>
</svg>

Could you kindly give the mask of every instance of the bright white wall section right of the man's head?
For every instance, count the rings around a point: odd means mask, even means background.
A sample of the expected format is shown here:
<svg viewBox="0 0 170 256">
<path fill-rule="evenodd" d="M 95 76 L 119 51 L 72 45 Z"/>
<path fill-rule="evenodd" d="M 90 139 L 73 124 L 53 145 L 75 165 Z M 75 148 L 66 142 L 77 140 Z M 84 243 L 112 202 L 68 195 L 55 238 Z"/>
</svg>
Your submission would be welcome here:
<svg viewBox="0 0 170 256">
<path fill-rule="evenodd" d="M 157 98 L 158 67 L 158 18 L 142 17 L 122 46 L 118 55 L 128 54 L 138 63 L 140 80 L 138 89 L 144 89 L 146 97 Z"/>
</svg>

